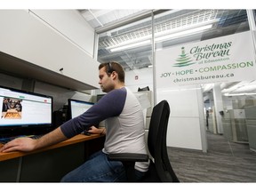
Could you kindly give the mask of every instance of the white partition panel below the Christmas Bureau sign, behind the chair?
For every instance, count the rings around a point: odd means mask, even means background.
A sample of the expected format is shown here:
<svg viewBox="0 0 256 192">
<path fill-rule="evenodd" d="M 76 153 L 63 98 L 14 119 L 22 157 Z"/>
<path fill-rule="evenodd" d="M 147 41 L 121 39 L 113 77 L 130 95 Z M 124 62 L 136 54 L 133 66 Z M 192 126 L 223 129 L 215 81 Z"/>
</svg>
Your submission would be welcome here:
<svg viewBox="0 0 256 192">
<path fill-rule="evenodd" d="M 156 101 L 161 100 L 167 100 L 171 109 L 167 146 L 206 150 L 203 147 L 205 139 L 202 137 L 204 102 L 201 89 L 196 85 L 159 88 L 156 89 Z"/>
</svg>

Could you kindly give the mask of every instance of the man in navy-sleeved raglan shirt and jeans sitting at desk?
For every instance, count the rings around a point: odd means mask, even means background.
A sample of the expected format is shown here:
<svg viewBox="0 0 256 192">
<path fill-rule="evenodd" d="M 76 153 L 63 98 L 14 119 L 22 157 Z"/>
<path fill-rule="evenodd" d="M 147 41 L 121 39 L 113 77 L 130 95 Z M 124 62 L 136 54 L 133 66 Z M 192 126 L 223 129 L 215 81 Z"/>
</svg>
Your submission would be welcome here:
<svg viewBox="0 0 256 192">
<path fill-rule="evenodd" d="M 144 138 L 144 120 L 140 103 L 124 84 L 124 68 L 116 62 L 101 63 L 99 66 L 99 84 L 103 92 L 108 92 L 83 115 L 69 120 L 65 124 L 37 140 L 19 138 L 6 143 L 0 152 L 15 150 L 32 151 L 68 140 L 92 128 L 88 132 L 106 134 L 104 148 L 93 154 L 88 161 L 69 172 L 62 178 L 65 182 L 125 181 L 124 166 L 121 162 L 108 161 L 108 153 L 147 154 Z M 106 128 L 97 129 L 106 119 Z M 149 162 L 135 164 L 139 180 L 148 171 Z"/>
</svg>

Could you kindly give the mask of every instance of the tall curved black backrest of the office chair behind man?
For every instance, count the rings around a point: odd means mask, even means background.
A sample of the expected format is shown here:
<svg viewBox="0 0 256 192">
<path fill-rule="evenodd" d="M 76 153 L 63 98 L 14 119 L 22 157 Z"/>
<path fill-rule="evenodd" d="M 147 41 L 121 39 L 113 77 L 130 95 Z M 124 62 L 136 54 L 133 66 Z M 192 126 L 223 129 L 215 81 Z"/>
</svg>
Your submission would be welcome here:
<svg viewBox="0 0 256 192">
<path fill-rule="evenodd" d="M 148 131 L 148 150 L 154 158 L 154 169 L 163 182 L 179 182 L 169 161 L 166 147 L 166 132 L 170 116 L 167 100 L 159 102 L 152 111 Z"/>
</svg>

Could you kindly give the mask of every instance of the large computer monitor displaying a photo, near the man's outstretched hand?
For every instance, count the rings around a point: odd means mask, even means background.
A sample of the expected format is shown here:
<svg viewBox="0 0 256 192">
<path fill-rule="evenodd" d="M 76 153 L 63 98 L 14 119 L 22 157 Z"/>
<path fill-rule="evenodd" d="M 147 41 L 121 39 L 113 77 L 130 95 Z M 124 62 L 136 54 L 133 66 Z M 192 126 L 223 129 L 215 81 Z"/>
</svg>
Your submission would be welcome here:
<svg viewBox="0 0 256 192">
<path fill-rule="evenodd" d="M 0 86 L 0 136 L 52 128 L 52 96 Z"/>
</svg>

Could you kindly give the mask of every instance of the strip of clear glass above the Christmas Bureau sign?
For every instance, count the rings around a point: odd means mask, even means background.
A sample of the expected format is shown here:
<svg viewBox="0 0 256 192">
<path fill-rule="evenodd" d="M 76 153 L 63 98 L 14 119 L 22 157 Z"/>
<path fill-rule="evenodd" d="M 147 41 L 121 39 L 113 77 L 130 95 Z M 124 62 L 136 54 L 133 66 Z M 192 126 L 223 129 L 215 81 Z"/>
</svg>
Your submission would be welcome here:
<svg viewBox="0 0 256 192">
<path fill-rule="evenodd" d="M 246 10 L 170 10 L 156 15 L 155 20 L 156 49 L 249 30 Z"/>
</svg>

